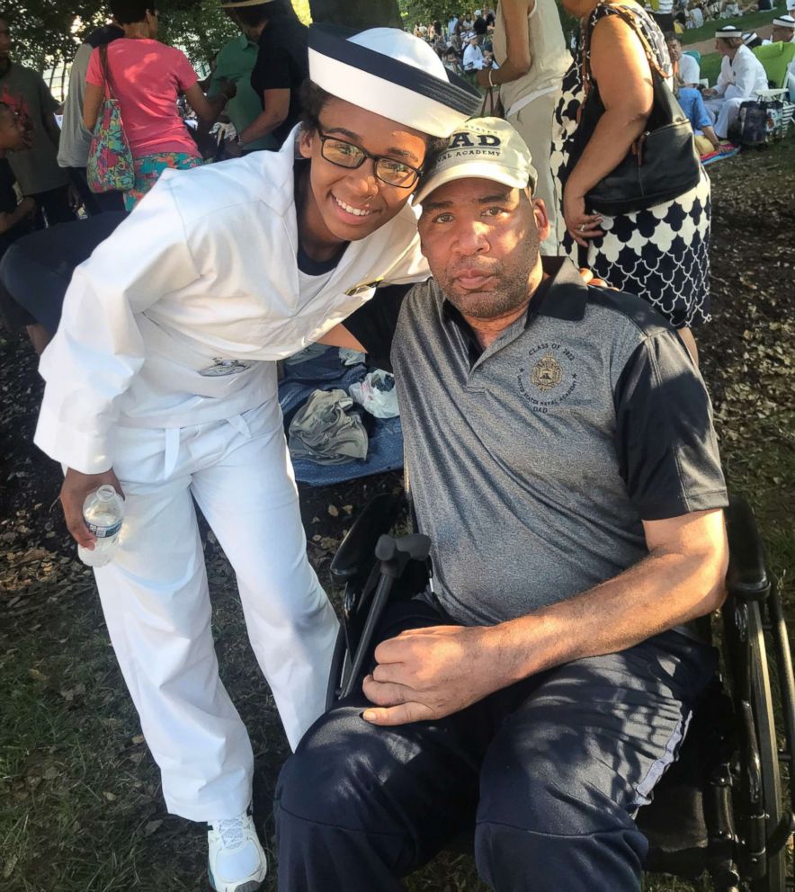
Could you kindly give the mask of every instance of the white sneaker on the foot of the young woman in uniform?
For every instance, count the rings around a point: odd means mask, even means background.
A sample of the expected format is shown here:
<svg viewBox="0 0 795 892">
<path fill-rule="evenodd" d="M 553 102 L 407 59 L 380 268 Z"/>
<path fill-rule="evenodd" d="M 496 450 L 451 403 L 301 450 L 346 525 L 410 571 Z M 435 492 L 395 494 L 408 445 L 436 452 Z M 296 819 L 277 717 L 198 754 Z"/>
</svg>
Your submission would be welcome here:
<svg viewBox="0 0 795 892">
<path fill-rule="evenodd" d="M 257 892 L 268 872 L 268 861 L 257 838 L 254 821 L 239 817 L 211 821 L 210 886 L 216 892 Z"/>
</svg>

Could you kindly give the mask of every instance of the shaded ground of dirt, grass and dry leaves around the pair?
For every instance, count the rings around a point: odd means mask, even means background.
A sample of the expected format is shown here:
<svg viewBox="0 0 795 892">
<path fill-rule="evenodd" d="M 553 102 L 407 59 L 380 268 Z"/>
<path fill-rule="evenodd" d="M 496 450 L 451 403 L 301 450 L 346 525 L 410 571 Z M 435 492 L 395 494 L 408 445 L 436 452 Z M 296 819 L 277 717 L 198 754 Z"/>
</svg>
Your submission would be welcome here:
<svg viewBox="0 0 795 892">
<path fill-rule="evenodd" d="M 702 370 L 731 486 L 757 508 L 791 615 L 795 570 L 793 235 L 795 138 L 710 168 L 713 322 Z M 4 892 L 205 889 L 204 830 L 167 816 L 98 609 L 57 495 L 59 468 L 31 445 L 41 382 L 26 343 L 0 342 L 0 877 Z M 398 474 L 302 487 L 321 581 L 351 516 Z M 249 727 L 255 815 L 270 803 L 287 749 L 250 655 L 226 558 L 207 540 L 222 673 Z M 682 889 L 667 881 L 648 888 Z M 266 888 L 272 889 L 272 879 Z M 480 888 L 466 859 L 436 861 L 415 890 Z"/>
</svg>

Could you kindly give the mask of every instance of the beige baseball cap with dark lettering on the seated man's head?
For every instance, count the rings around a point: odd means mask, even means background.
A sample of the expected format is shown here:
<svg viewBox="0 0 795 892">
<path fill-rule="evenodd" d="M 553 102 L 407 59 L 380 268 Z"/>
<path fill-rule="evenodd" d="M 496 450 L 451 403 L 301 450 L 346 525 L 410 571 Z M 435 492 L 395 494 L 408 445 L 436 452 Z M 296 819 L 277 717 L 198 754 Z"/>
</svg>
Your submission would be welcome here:
<svg viewBox="0 0 795 892">
<path fill-rule="evenodd" d="M 501 118 L 472 118 L 456 129 L 447 148 L 435 158 L 420 181 L 414 203 L 453 180 L 474 176 L 515 189 L 535 190 L 538 174 L 530 149 L 519 133 Z"/>
</svg>

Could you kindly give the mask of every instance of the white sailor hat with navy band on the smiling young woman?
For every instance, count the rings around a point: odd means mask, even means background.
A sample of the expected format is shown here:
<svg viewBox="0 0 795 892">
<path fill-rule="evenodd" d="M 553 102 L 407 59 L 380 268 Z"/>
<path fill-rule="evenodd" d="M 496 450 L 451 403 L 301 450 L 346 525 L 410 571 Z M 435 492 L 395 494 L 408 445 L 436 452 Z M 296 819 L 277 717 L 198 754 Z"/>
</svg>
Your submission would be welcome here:
<svg viewBox="0 0 795 892">
<path fill-rule="evenodd" d="M 345 40 L 309 26 L 309 79 L 326 93 L 433 137 L 448 137 L 478 112 L 475 87 L 442 65 L 431 47 L 398 28 Z"/>
</svg>

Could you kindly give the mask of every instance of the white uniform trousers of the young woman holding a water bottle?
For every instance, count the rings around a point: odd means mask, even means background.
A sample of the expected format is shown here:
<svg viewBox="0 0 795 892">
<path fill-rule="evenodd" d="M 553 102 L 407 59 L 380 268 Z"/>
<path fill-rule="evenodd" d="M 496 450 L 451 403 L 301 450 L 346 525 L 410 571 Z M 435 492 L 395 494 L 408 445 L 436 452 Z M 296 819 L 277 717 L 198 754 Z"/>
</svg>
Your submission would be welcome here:
<svg viewBox="0 0 795 892">
<path fill-rule="evenodd" d="M 253 755 L 219 680 L 191 495 L 235 569 L 294 748 L 325 708 L 337 620 L 308 563 L 281 412 L 273 400 L 228 421 L 114 436 L 125 521 L 117 557 L 95 571 L 112 644 L 168 810 L 237 816 L 251 799 Z"/>
</svg>

